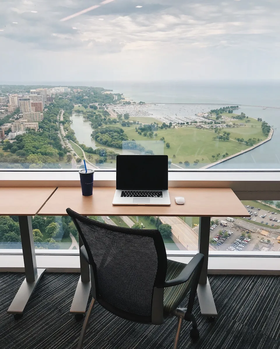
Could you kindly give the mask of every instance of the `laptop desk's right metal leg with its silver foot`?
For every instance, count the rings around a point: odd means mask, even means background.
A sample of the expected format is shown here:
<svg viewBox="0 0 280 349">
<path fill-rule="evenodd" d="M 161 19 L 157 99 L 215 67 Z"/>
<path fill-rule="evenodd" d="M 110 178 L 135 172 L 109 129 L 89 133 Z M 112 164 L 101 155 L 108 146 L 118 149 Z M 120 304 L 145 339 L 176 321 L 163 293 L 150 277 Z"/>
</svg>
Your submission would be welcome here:
<svg viewBox="0 0 280 349">
<path fill-rule="evenodd" d="M 211 217 L 199 218 L 198 249 L 200 253 L 204 254 L 204 262 L 202 266 L 197 292 L 201 315 L 213 318 L 217 316 L 217 310 L 207 277 L 210 220 Z"/>
</svg>

